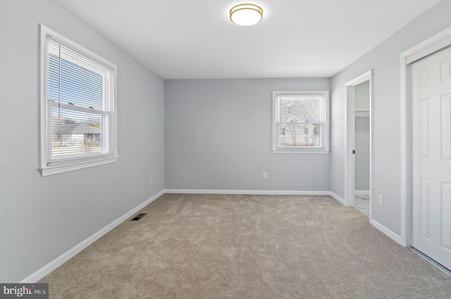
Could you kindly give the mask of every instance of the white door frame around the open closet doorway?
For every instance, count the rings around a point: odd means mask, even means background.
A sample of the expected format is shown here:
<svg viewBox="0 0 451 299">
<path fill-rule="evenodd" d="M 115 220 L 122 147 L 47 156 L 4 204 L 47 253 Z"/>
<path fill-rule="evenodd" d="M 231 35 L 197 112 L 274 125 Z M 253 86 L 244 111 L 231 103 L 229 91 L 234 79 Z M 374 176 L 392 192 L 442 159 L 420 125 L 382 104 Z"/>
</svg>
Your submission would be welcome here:
<svg viewBox="0 0 451 299">
<path fill-rule="evenodd" d="M 345 204 L 354 206 L 354 141 L 355 141 L 355 87 L 369 81 L 369 219 L 372 215 L 373 198 L 373 70 L 346 82 L 346 145 L 345 145 Z"/>
</svg>

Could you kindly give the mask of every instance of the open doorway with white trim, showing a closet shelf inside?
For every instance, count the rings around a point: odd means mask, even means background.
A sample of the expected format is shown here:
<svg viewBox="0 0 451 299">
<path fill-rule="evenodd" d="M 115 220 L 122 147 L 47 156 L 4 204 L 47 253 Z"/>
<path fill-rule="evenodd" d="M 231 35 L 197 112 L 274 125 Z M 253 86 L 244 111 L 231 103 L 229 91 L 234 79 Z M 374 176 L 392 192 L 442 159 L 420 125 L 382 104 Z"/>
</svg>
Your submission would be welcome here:
<svg viewBox="0 0 451 299">
<path fill-rule="evenodd" d="M 347 143 L 345 203 L 371 220 L 372 72 L 346 83 Z"/>
</svg>

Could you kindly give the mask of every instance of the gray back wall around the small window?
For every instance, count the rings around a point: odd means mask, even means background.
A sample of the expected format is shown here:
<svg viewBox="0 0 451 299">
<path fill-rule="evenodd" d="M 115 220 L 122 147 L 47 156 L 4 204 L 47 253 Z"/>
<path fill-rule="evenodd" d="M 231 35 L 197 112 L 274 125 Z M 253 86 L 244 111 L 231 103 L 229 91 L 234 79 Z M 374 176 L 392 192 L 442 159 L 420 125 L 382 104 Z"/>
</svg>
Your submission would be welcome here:
<svg viewBox="0 0 451 299">
<path fill-rule="evenodd" d="M 272 152 L 272 91 L 329 87 L 330 79 L 166 80 L 166 189 L 329 191 L 330 154 Z"/>
</svg>

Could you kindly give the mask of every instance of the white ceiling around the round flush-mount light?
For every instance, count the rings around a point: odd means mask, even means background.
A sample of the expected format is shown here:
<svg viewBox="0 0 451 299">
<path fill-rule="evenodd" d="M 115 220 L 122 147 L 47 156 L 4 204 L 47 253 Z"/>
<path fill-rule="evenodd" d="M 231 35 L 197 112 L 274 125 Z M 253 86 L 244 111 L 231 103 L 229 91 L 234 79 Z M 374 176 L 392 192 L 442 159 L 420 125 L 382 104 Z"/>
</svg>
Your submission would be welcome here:
<svg viewBox="0 0 451 299">
<path fill-rule="evenodd" d="M 440 0 L 54 0 L 164 79 L 331 77 Z"/>
</svg>

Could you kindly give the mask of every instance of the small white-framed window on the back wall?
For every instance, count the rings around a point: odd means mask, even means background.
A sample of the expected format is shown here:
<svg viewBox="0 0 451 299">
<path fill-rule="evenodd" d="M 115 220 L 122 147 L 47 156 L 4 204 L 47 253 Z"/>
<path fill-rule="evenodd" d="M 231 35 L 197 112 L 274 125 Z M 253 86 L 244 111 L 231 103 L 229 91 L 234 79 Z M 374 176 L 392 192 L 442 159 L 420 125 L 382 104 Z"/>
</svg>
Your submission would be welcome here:
<svg viewBox="0 0 451 299">
<path fill-rule="evenodd" d="M 273 91 L 273 152 L 329 152 L 328 91 Z"/>
</svg>

